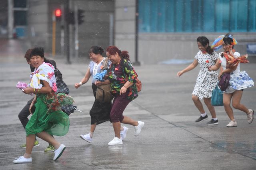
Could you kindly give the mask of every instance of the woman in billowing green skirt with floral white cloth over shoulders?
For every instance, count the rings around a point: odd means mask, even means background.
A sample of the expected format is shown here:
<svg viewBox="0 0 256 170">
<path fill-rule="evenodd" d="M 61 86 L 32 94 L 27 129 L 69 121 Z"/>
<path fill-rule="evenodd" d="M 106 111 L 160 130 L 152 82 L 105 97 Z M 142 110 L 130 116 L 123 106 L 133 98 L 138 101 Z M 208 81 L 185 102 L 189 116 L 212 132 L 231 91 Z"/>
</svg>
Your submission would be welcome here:
<svg viewBox="0 0 256 170">
<path fill-rule="evenodd" d="M 53 160 L 57 160 L 62 155 L 66 146 L 51 135 L 63 136 L 68 133 L 69 118 L 61 110 L 61 106 L 74 102 L 72 97 L 64 93 L 55 94 L 57 86 L 54 67 L 44 62 L 43 48 L 36 47 L 31 51 L 30 62 L 35 70 L 30 75 L 30 84 L 24 89 L 24 93 L 35 95 L 29 108 L 32 116 L 26 125 L 26 151 L 23 156 L 13 161 L 16 164 L 32 162 L 31 153 L 35 136 L 54 146 L 56 150 Z"/>
</svg>

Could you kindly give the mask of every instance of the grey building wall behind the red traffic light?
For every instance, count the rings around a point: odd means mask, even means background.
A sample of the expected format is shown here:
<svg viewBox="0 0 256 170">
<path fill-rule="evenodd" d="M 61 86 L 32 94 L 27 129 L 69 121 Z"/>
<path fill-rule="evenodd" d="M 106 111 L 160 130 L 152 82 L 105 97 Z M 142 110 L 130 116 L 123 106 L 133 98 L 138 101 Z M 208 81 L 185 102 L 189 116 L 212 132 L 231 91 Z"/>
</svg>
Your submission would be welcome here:
<svg viewBox="0 0 256 170">
<path fill-rule="evenodd" d="M 32 45 L 41 45 L 51 55 L 52 52 L 52 12 L 61 7 L 64 0 L 29 0 L 28 10 L 28 38 Z M 79 56 L 88 57 L 88 50 L 92 45 L 108 47 L 110 39 L 110 14 L 114 14 L 113 0 L 70 0 L 70 10 L 74 6 L 84 10 L 84 22 L 78 27 Z M 64 17 L 64 12 L 62 13 Z M 56 21 L 56 55 L 60 49 L 61 22 Z M 70 25 L 70 58 L 74 58 L 74 29 Z M 31 30 L 34 30 L 35 36 Z M 66 40 L 65 40 L 66 42 Z M 64 49 L 65 50 L 65 49 Z"/>
</svg>

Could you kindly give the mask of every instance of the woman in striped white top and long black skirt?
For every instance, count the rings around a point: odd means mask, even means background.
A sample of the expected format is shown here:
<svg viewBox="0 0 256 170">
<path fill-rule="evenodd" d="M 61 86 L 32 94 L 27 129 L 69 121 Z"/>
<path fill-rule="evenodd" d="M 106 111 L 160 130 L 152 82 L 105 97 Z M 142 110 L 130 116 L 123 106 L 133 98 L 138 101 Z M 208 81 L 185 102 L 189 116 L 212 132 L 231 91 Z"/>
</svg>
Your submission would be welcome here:
<svg viewBox="0 0 256 170">
<path fill-rule="evenodd" d="M 105 59 L 108 59 L 107 57 L 103 57 L 102 54 L 104 53 L 104 49 L 101 46 L 92 46 L 89 50 L 89 56 L 92 61 L 89 63 L 89 67 L 82 78 L 82 80 L 79 83 L 75 83 L 75 88 L 78 89 L 81 85 L 88 82 L 90 77 L 94 76 L 96 73 L 101 73 L 102 70 L 102 64 Z M 108 61 L 107 66 L 109 67 L 111 64 L 111 61 Z M 92 91 L 94 94 L 94 97 L 96 97 L 96 89 L 97 86 L 95 85 L 95 79 L 92 79 Z M 110 121 L 110 111 L 111 111 L 112 103 L 106 102 L 106 103 L 100 103 L 99 101 L 95 100 L 94 104 L 92 105 L 92 109 L 90 110 L 90 116 L 91 116 L 91 127 L 90 132 L 85 135 L 80 135 L 80 137 L 83 140 L 86 140 L 87 142 L 92 142 L 92 136 L 94 133 L 94 130 L 96 128 L 96 125 L 99 125 L 100 123 Z M 120 135 L 122 136 L 122 140 L 126 137 L 126 133 L 128 131 L 127 127 L 121 127 Z"/>
</svg>

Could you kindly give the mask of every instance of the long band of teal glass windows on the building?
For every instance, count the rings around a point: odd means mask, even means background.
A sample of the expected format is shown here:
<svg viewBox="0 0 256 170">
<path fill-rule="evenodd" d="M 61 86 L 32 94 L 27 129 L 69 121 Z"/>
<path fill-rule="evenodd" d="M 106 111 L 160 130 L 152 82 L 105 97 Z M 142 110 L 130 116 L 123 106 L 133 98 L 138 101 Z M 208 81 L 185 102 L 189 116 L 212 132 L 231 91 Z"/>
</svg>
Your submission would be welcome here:
<svg viewBox="0 0 256 170">
<path fill-rule="evenodd" d="M 140 32 L 256 32 L 256 0 L 139 0 Z"/>
</svg>

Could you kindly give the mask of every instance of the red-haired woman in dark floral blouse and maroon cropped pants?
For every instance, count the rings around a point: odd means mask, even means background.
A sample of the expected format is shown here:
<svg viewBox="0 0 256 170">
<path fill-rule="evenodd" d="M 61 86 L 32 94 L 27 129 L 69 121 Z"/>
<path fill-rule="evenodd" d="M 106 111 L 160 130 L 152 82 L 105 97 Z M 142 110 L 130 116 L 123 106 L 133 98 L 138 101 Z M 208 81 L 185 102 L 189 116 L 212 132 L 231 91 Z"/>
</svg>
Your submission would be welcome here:
<svg viewBox="0 0 256 170">
<path fill-rule="evenodd" d="M 126 106 L 136 97 L 138 92 L 136 88 L 137 74 L 130 62 L 127 51 L 120 51 L 116 46 L 109 46 L 106 49 L 106 55 L 112 62 L 108 79 L 103 83 L 96 81 L 96 85 L 111 84 L 111 93 L 114 95 L 110 119 L 113 124 L 115 137 L 108 145 L 123 144 L 120 138 L 121 123 L 133 125 L 135 128 L 135 136 L 140 134 L 144 122 L 134 121 L 130 117 L 123 116 Z"/>
</svg>

